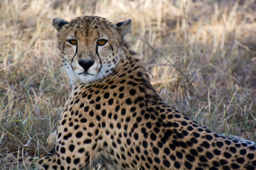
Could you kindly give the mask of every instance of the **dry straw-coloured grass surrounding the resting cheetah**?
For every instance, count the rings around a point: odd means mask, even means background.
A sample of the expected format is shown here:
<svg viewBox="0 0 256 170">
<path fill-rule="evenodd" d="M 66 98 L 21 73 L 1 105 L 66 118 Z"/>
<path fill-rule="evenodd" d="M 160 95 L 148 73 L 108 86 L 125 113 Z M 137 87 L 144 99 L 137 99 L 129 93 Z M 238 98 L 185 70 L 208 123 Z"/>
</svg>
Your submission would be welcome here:
<svg viewBox="0 0 256 170">
<path fill-rule="evenodd" d="M 127 39 L 167 103 L 256 141 L 255 1 L 0 0 L 1 154 L 44 152 L 70 91 L 51 22 L 82 15 L 131 18 Z"/>
</svg>

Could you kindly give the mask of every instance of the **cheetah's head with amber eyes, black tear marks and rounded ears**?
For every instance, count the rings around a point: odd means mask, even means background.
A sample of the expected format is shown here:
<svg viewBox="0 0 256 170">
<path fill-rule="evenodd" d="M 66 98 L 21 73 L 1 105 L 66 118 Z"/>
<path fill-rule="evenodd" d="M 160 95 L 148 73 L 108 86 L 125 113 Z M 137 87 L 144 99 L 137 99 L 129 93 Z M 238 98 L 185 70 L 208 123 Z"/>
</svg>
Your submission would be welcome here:
<svg viewBox="0 0 256 170">
<path fill-rule="evenodd" d="M 131 21 L 113 25 L 105 18 L 82 17 L 68 23 L 53 19 L 58 45 L 71 84 L 90 83 L 111 74 L 122 57 Z"/>
</svg>

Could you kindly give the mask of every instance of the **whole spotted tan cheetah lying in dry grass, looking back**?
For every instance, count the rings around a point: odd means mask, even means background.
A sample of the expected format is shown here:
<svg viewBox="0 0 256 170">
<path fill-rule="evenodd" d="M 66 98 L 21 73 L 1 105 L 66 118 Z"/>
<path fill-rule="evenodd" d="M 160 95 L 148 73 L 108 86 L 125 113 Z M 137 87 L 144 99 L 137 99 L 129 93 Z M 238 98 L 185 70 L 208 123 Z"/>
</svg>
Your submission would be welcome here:
<svg viewBox="0 0 256 170">
<path fill-rule="evenodd" d="M 168 106 L 125 41 L 131 20 L 53 19 L 72 84 L 44 169 L 256 169 L 256 145 L 223 137 Z M 53 137 L 54 138 L 54 137 Z"/>
</svg>

